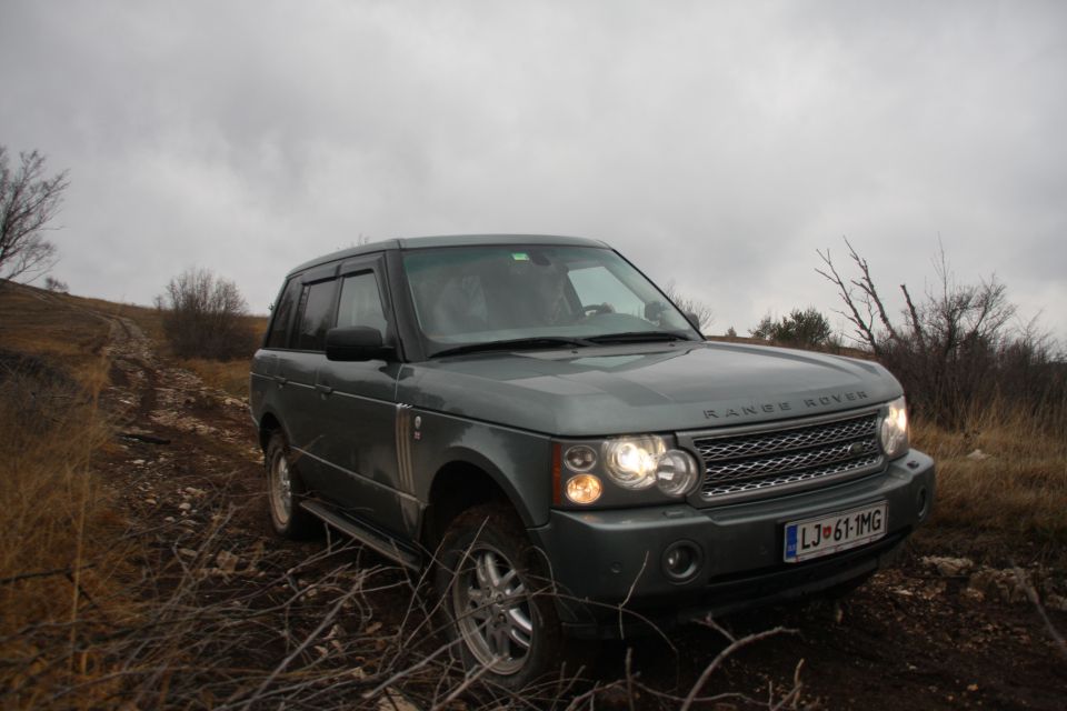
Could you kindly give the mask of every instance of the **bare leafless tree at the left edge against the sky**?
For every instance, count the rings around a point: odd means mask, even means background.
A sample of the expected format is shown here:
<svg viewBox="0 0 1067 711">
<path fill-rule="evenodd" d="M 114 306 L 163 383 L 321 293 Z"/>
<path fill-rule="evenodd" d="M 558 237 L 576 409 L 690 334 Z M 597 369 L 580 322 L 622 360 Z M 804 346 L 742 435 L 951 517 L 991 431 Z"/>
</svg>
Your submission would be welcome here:
<svg viewBox="0 0 1067 711">
<path fill-rule="evenodd" d="M 26 279 L 56 263 L 56 246 L 41 233 L 56 217 L 67 189 L 67 172 L 44 178 L 44 157 L 19 153 L 19 167 L 8 166 L 0 146 L 0 278 Z"/>
</svg>

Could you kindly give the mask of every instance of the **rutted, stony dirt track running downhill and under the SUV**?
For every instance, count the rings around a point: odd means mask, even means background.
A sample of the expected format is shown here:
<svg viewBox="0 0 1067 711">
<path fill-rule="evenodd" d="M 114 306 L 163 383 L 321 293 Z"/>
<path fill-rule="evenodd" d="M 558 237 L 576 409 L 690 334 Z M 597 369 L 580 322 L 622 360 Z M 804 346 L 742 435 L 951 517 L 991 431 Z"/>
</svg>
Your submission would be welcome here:
<svg viewBox="0 0 1067 711">
<path fill-rule="evenodd" d="M 200 605 L 196 615 L 173 618 L 189 629 L 168 643 L 195 650 L 200 665 L 168 677 L 163 705 L 408 709 L 442 701 L 447 655 L 418 667 L 420 644 L 432 653 L 426 640 L 433 637 L 408 578 L 343 541 L 276 539 L 247 403 L 173 367 L 133 321 L 98 316 L 111 323 L 112 384 L 101 403 L 116 430 L 100 469 L 131 535 L 152 551 L 146 568 L 162 571 L 153 582 L 161 599 L 180 600 L 174 609 Z M 936 553 L 910 548 L 840 603 L 720 621 L 738 637 L 777 627 L 792 632 L 731 655 L 704 690 L 749 701 L 701 708 L 754 708 L 781 699 L 797 680 L 797 708 L 1065 708 L 1067 655 L 1020 578 Z M 1067 613 L 1054 609 L 1063 608 L 1057 574 L 1030 567 L 1023 578 L 1045 598 L 1053 627 L 1067 632 Z M 637 640 L 632 652 L 605 644 L 594 681 L 572 693 L 629 670 L 629 683 L 588 693 L 584 708 L 677 708 L 670 697 L 685 697 L 727 642 L 721 631 L 698 625 L 671 640 Z M 538 693 L 534 708 L 550 705 L 556 692 Z M 471 684 L 447 708 L 490 699 Z"/>
</svg>

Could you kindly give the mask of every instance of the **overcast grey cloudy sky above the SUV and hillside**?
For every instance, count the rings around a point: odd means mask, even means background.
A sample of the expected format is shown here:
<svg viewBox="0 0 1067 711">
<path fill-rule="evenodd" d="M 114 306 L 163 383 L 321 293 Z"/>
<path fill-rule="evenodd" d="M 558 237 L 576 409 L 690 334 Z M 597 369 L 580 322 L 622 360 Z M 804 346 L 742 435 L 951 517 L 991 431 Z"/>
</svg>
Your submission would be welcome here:
<svg viewBox="0 0 1067 711">
<path fill-rule="evenodd" d="M 840 307 L 817 249 L 897 308 L 940 238 L 1067 334 L 1065 2 L 3 0 L 0 88 L 78 294 L 265 313 L 360 236 L 577 234 L 747 334 Z"/>
</svg>

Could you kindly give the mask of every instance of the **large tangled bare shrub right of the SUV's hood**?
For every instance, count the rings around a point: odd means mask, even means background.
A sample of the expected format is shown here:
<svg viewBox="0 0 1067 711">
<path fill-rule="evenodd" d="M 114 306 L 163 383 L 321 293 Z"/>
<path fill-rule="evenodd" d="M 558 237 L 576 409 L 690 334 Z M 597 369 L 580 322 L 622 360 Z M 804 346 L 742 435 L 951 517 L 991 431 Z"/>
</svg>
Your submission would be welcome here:
<svg viewBox="0 0 1067 711">
<path fill-rule="evenodd" d="M 818 252 L 825 268 L 816 271 L 837 287 L 846 307 L 839 313 L 854 338 L 900 379 L 914 410 L 936 424 L 960 427 L 997 403 L 1063 431 L 1067 363 L 1035 322 L 1016 326 L 1016 308 L 996 277 L 960 284 L 941 250 L 935 286 L 916 301 L 900 284 L 906 308 L 894 318 L 867 260 L 845 243 L 857 277 L 842 277 L 829 250 Z"/>
</svg>

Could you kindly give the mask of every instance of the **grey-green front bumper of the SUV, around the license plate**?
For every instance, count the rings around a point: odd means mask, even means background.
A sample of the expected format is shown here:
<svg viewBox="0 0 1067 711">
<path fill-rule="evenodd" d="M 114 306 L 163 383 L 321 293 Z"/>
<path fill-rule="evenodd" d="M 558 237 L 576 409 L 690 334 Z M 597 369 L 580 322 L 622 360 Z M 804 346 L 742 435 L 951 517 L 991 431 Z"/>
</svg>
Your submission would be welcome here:
<svg viewBox="0 0 1067 711">
<path fill-rule="evenodd" d="M 608 511 L 554 510 L 530 535 L 545 550 L 565 627 L 579 637 L 625 634 L 705 613 L 811 594 L 862 578 L 888 561 L 929 515 L 934 462 L 910 451 L 884 472 L 836 485 L 696 509 L 687 503 Z M 888 503 L 885 538 L 807 562 L 784 562 L 784 529 L 797 521 Z M 686 542 L 699 567 L 684 582 L 665 568 Z"/>
</svg>

